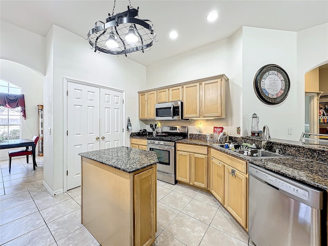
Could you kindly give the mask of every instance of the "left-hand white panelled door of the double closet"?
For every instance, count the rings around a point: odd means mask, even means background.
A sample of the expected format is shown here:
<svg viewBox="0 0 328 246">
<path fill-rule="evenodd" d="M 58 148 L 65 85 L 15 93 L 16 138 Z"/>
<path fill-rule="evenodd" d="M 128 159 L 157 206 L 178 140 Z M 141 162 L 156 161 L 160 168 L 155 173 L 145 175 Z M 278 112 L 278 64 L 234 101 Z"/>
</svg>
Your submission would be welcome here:
<svg viewBox="0 0 328 246">
<path fill-rule="evenodd" d="M 68 82 L 67 190 L 81 185 L 78 153 L 99 150 L 99 88 Z"/>
</svg>

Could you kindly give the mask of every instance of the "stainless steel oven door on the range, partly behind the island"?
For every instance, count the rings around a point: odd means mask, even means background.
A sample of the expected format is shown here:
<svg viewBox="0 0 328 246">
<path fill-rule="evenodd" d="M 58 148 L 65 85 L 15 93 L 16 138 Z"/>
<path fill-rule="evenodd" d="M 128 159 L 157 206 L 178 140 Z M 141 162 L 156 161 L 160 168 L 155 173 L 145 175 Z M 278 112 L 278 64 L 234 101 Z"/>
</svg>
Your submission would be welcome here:
<svg viewBox="0 0 328 246">
<path fill-rule="evenodd" d="M 174 146 L 147 144 L 147 150 L 154 151 L 157 155 L 157 171 L 175 173 Z"/>
</svg>

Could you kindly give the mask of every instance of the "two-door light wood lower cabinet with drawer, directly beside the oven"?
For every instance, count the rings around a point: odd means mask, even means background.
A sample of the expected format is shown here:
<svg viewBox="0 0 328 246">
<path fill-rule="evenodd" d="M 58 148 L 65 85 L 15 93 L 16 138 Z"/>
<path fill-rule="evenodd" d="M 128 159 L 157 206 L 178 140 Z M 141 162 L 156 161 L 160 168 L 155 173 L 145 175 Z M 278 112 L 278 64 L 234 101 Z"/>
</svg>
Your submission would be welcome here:
<svg viewBox="0 0 328 246">
<path fill-rule="evenodd" d="M 207 147 L 177 144 L 176 179 L 197 187 L 208 188 Z"/>
</svg>

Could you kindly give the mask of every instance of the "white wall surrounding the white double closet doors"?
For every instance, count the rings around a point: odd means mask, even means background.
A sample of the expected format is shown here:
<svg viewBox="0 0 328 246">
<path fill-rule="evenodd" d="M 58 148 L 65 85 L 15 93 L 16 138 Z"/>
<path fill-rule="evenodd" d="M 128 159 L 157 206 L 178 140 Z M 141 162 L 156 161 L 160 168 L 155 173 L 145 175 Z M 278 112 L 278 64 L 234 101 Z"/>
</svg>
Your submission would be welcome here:
<svg viewBox="0 0 328 246">
<path fill-rule="evenodd" d="M 89 83 L 117 88 L 126 92 L 126 118 L 130 117 L 132 131 L 139 130 L 138 94 L 145 88 L 146 67 L 127 59 L 124 56 L 113 56 L 95 53 L 88 42 L 63 28 L 53 26 L 53 77 L 46 83 L 52 87 L 52 134 L 53 142 L 49 143 L 48 151 L 55 155 L 52 160 L 47 159 L 49 172 L 53 170 L 53 180 L 45 181 L 53 191 L 63 189 L 63 77 L 74 78 Z M 51 42 L 50 38 L 47 42 Z M 51 47 L 51 45 L 49 45 Z M 49 52 L 49 51 L 48 51 Z M 46 86 L 48 86 L 46 85 Z M 66 92 L 65 92 L 66 94 Z M 49 95 L 51 96 L 51 95 Z M 50 115 L 51 117 L 51 115 Z M 126 129 L 126 119 L 123 122 Z M 130 146 L 129 135 L 126 132 L 126 145 Z M 46 160 L 46 159 L 45 159 Z M 47 171 L 48 172 L 48 171 Z M 52 183 L 49 182 L 52 181 Z"/>
</svg>

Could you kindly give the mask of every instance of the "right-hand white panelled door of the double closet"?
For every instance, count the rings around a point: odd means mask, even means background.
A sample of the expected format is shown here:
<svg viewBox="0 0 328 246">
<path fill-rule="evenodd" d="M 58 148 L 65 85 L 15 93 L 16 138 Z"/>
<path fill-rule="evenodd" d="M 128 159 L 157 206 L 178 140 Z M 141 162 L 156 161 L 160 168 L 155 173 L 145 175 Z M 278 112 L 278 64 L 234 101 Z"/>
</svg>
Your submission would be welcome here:
<svg viewBox="0 0 328 246">
<path fill-rule="evenodd" d="M 100 149 L 123 146 L 123 93 L 100 88 Z"/>
</svg>

